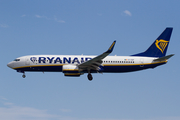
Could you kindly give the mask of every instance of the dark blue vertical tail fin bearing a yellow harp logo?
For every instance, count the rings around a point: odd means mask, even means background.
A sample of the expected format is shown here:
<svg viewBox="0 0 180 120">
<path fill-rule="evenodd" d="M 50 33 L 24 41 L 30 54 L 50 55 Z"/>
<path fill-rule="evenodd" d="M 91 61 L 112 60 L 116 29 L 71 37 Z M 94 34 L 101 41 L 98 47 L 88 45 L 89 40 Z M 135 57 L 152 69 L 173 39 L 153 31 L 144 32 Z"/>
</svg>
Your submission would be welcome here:
<svg viewBox="0 0 180 120">
<path fill-rule="evenodd" d="M 132 56 L 164 57 L 169 45 L 172 30 L 173 28 L 166 28 L 145 52 Z"/>
</svg>

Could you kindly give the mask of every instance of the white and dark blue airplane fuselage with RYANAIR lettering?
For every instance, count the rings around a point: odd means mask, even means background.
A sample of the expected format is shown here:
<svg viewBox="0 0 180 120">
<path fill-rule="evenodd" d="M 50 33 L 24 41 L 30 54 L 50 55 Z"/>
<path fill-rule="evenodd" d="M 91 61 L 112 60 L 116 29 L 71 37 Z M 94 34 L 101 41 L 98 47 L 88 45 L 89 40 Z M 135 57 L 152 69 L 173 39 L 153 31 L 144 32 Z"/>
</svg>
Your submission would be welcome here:
<svg viewBox="0 0 180 120">
<path fill-rule="evenodd" d="M 57 71 L 62 72 L 63 65 L 79 65 L 96 56 L 85 55 L 29 55 L 15 59 L 8 66 L 20 71 Z M 100 72 L 131 72 L 154 68 L 163 62 L 154 62 L 154 57 L 107 56 L 102 60 Z"/>
</svg>

